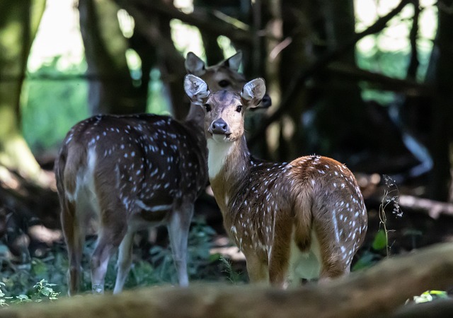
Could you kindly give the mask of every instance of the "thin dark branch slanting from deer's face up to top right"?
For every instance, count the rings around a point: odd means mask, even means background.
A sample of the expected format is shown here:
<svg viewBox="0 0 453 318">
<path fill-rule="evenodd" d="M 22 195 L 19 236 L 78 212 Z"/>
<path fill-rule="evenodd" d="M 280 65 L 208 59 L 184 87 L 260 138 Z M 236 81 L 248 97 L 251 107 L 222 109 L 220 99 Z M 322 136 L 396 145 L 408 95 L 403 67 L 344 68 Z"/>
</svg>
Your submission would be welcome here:
<svg viewBox="0 0 453 318">
<path fill-rule="evenodd" d="M 345 42 L 337 49 L 324 54 L 323 57 L 319 58 L 313 64 L 306 67 L 306 69 L 299 71 L 298 75 L 289 82 L 289 89 L 287 90 L 288 93 L 287 95 L 282 97 L 280 107 L 263 121 L 263 124 L 261 124 L 261 126 L 258 127 L 254 134 L 248 139 L 248 143 L 252 144 L 261 139 L 268 126 L 275 122 L 275 120 L 282 117 L 282 114 L 284 114 L 287 111 L 287 108 L 291 105 L 290 101 L 294 99 L 294 94 L 297 93 L 298 88 L 304 86 L 304 83 L 307 79 L 313 76 L 317 71 L 320 71 L 320 69 L 323 69 L 323 67 L 327 66 L 329 63 L 331 63 L 331 61 L 338 59 L 338 57 L 342 56 L 345 52 L 348 52 L 349 49 L 355 47 L 355 44 L 363 37 L 384 30 L 389 20 L 394 18 L 394 16 L 396 16 L 407 4 L 410 4 L 412 2 L 413 0 L 401 0 L 398 6 L 387 13 L 386 16 L 379 18 L 379 20 L 377 20 L 373 25 L 369 26 L 369 28 L 362 31 L 361 33 L 357 33 L 354 37 L 352 37 L 350 41 Z"/>
</svg>

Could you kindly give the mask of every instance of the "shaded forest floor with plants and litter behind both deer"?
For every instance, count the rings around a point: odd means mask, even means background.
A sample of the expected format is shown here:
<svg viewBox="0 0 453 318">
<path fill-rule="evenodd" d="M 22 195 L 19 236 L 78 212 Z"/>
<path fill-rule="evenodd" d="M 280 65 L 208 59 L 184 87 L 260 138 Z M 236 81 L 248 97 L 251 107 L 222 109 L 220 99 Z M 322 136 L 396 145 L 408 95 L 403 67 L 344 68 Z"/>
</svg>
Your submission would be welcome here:
<svg viewBox="0 0 453 318">
<path fill-rule="evenodd" d="M 362 182 L 369 220 L 365 243 L 357 252 L 352 270 L 373 266 L 388 255 L 406 254 L 435 243 L 453 241 L 453 216 L 439 213 L 433 218 L 429 206 L 414 208 L 400 204 L 399 199 L 403 196 L 420 196 L 423 192 L 423 180 L 396 185 L 389 180 L 384 182 L 378 178 L 376 181 L 376 175 L 359 176 L 357 179 L 359 183 Z M 50 214 L 55 216 L 59 207 L 55 189 L 52 193 L 52 199 L 47 200 L 47 205 L 50 206 L 46 207 L 46 211 L 52 211 Z M 433 209 L 435 207 L 432 207 Z M 189 247 L 192 259 L 192 264 L 189 264 L 191 281 L 246 282 L 245 259 L 226 237 L 222 216 L 212 196 L 204 194 L 197 201 L 194 220 L 189 242 L 192 246 Z M 31 228 L 33 227 L 28 230 Z M 139 234 L 138 247 L 134 249 L 135 265 L 127 288 L 134 285 L 176 283 L 174 268 L 168 266 L 172 261 L 166 230 L 159 229 L 152 232 L 152 235 L 148 232 Z M 28 261 L 13 257 L 4 244 L 5 240 L 3 244 L 0 241 L 0 282 L 6 283 L 6 289 L 9 288 L 13 295 L 26 293 L 30 285 L 40 279 L 46 279 L 50 283 L 56 283 L 59 286 L 56 289 L 65 294 L 67 256 L 61 231 L 55 228 L 55 220 L 52 221 L 51 229 L 40 225 L 35 229 L 33 237 L 29 246 L 31 259 Z M 89 290 L 87 259 L 93 249 L 94 237 L 88 237 L 87 242 L 84 263 L 85 290 Z M 140 261 L 141 259 L 144 261 Z M 115 279 L 113 268 L 114 264 L 111 264 L 106 278 L 107 287 L 113 285 Z"/>
</svg>

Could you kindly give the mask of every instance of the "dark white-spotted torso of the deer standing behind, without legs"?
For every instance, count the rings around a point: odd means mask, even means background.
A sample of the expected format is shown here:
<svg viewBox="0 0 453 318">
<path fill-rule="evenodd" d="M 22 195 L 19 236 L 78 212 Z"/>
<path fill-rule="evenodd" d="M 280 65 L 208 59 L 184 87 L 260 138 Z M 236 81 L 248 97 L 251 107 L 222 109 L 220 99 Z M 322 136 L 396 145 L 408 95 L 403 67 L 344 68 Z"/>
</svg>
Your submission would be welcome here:
<svg viewBox="0 0 453 318">
<path fill-rule="evenodd" d="M 76 182 L 93 179 L 94 187 L 115 187 L 125 206 L 137 211 L 170 207 L 186 195 L 194 200 L 207 182 L 201 129 L 154 114 L 99 115 L 79 122 L 64 139 L 59 162 L 60 194 L 74 193 Z"/>
</svg>

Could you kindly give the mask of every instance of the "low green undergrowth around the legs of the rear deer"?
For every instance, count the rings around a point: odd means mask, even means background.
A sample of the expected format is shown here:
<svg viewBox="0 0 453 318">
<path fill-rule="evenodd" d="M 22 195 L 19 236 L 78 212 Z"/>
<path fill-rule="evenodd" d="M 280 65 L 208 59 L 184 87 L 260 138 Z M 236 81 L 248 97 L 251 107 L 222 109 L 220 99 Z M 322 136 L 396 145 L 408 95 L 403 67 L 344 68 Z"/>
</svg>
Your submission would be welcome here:
<svg viewBox="0 0 453 318">
<path fill-rule="evenodd" d="M 188 273 L 191 281 L 222 279 L 219 277 L 221 276 L 219 273 L 222 273 L 226 265 L 220 261 L 220 254 L 210 254 L 215 235 L 217 233 L 207 225 L 204 218 L 193 219 L 188 237 Z M 88 237 L 84 247 L 82 262 L 84 271 L 82 271 L 81 278 L 81 290 L 86 290 L 86 293 L 91 293 L 89 259 L 95 247 L 95 237 Z M 138 251 L 136 250 L 136 252 Z M 115 284 L 116 261 L 117 257 L 113 255 L 105 276 L 106 290 L 112 290 Z M 52 288 L 55 293 L 67 295 L 68 260 L 62 242 L 55 244 L 44 258 L 33 258 L 29 264 L 25 265 L 12 264 L 8 256 L 0 253 L 0 269 L 2 303 L 18 302 L 19 300 L 26 302 L 27 298 L 22 296 L 17 298 L 17 296 L 34 295 L 35 288 L 38 287 L 46 293 L 49 291 L 47 288 Z M 40 287 L 39 283 L 35 284 L 37 281 L 45 285 Z M 176 268 L 173 264 L 171 249 L 156 245 L 149 250 L 148 259 L 135 257 L 125 287 L 135 288 L 164 283 L 177 283 Z"/>
</svg>

